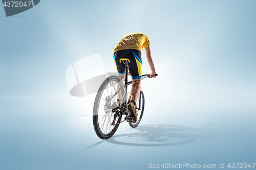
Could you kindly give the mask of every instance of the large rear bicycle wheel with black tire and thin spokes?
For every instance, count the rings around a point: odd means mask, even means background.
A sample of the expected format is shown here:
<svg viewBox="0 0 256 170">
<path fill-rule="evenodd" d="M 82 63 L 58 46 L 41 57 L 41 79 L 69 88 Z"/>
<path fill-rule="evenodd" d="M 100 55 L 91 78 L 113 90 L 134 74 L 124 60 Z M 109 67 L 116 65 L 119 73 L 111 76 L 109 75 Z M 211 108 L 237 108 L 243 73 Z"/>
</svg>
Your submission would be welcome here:
<svg viewBox="0 0 256 170">
<path fill-rule="evenodd" d="M 122 82 L 116 76 L 106 78 L 101 84 L 93 106 L 93 127 L 99 138 L 108 139 L 116 132 L 122 118 L 117 97 L 123 93 Z"/>
</svg>

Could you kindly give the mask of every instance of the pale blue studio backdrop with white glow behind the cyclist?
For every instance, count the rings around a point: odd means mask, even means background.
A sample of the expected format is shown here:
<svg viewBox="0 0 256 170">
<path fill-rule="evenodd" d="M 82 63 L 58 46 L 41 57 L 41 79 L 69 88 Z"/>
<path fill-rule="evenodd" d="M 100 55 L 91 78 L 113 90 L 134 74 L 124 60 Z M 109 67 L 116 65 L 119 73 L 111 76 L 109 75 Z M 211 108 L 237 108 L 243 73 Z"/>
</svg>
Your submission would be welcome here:
<svg viewBox="0 0 256 170">
<path fill-rule="evenodd" d="M 255 5 L 45 0 L 8 18 L 0 7 L 0 169 L 256 162 Z M 105 70 L 115 71 L 113 49 L 130 32 L 150 38 L 159 77 L 143 81 L 141 126 L 121 124 L 102 141 L 94 96 L 69 95 L 65 70 L 100 53 Z M 142 62 L 150 73 L 144 51 Z M 186 100 L 169 99 L 178 92 Z"/>
</svg>

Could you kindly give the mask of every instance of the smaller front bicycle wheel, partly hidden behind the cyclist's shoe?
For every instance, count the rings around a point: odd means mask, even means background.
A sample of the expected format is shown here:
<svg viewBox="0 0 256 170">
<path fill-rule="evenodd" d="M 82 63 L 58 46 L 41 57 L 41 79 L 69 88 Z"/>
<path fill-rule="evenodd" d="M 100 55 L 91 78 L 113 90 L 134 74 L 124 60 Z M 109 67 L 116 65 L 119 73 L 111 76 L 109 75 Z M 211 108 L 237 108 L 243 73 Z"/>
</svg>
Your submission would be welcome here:
<svg viewBox="0 0 256 170">
<path fill-rule="evenodd" d="M 141 109 L 140 109 L 141 111 L 138 109 L 138 108 L 140 108 L 139 105 L 141 106 Z M 139 98 L 138 98 L 138 100 L 136 102 L 137 122 L 136 123 L 129 122 L 129 125 L 132 128 L 136 128 L 139 125 L 139 123 L 140 123 L 140 121 L 142 119 L 142 116 L 143 116 L 144 105 L 145 105 L 144 93 L 143 93 L 143 91 L 140 91 Z"/>
</svg>

